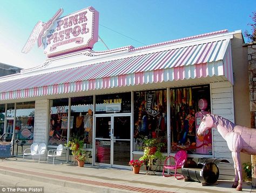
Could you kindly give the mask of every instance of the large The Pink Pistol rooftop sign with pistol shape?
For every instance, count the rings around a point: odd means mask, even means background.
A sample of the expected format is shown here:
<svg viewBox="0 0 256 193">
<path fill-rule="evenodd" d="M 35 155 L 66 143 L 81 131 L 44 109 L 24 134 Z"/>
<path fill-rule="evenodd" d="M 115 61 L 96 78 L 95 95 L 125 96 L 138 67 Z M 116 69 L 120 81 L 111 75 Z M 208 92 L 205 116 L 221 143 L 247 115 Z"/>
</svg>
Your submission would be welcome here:
<svg viewBox="0 0 256 193">
<path fill-rule="evenodd" d="M 90 6 L 59 18 L 62 13 L 60 8 L 48 22 L 38 22 L 22 52 L 28 53 L 36 41 L 48 57 L 92 49 L 98 42 L 98 11 Z"/>
</svg>

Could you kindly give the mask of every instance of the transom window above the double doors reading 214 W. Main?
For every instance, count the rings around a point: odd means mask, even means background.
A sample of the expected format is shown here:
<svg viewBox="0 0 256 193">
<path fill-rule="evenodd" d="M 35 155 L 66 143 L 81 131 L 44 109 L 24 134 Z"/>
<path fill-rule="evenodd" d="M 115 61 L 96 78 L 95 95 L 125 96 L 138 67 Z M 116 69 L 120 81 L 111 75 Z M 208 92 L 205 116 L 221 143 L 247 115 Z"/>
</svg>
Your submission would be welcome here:
<svg viewBox="0 0 256 193">
<path fill-rule="evenodd" d="M 96 96 L 96 114 L 131 113 L 131 93 Z"/>
</svg>

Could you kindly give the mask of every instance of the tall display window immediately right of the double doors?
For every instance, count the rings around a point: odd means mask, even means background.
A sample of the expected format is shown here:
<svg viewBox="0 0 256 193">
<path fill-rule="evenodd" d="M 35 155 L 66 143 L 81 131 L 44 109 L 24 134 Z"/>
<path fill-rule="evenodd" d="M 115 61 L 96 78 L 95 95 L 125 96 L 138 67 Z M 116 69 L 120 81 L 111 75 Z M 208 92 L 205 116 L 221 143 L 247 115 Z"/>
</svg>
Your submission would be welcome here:
<svg viewBox="0 0 256 193">
<path fill-rule="evenodd" d="M 166 90 L 134 92 L 133 150 L 143 151 L 145 139 L 163 143 L 167 152 L 167 96 Z"/>
</svg>

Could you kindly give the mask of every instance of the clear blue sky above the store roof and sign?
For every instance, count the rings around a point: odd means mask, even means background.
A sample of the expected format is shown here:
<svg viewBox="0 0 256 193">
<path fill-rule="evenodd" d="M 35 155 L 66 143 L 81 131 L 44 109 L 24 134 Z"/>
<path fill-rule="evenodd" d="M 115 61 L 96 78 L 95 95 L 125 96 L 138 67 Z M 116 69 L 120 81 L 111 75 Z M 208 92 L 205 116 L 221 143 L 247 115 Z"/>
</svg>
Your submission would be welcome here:
<svg viewBox="0 0 256 193">
<path fill-rule="evenodd" d="M 59 8 L 63 8 L 65 16 L 93 6 L 99 12 L 99 36 L 110 49 L 140 47 L 224 29 L 250 31 L 249 16 L 256 11 L 255 0 L 0 0 L 0 5 L 0 63 L 23 68 L 43 64 L 46 56 L 37 45 L 28 54 L 21 50 L 35 24 L 39 20 L 47 22 Z M 93 50 L 106 47 L 98 42 Z"/>
</svg>

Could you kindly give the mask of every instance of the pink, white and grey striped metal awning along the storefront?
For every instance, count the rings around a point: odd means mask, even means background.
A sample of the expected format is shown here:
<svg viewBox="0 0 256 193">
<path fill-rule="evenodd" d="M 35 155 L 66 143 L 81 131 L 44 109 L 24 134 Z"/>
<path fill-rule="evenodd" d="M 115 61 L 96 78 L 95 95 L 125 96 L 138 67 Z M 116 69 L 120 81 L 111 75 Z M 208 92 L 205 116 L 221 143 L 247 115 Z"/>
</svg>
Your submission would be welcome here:
<svg viewBox="0 0 256 193">
<path fill-rule="evenodd" d="M 182 44 L 181 44 L 182 45 Z M 1 100 L 222 76 L 233 84 L 230 39 L 180 46 L 0 82 Z"/>
</svg>

